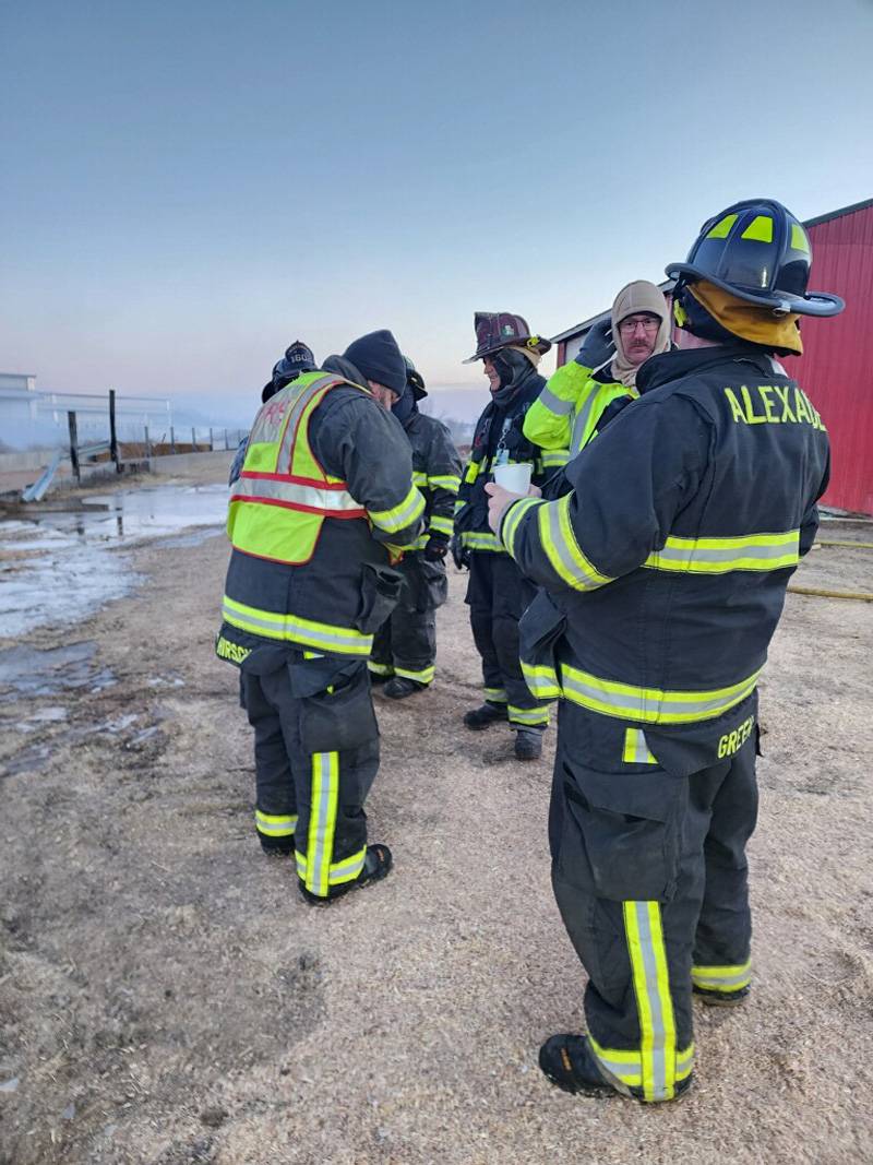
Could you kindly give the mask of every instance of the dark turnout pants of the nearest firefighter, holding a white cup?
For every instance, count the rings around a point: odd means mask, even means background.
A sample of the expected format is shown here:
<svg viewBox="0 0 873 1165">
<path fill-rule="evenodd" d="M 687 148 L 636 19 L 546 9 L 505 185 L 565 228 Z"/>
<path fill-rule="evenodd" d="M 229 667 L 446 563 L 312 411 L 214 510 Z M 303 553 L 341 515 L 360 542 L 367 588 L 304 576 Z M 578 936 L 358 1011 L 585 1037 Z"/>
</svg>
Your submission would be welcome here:
<svg viewBox="0 0 873 1165">
<path fill-rule="evenodd" d="M 567 701 L 559 712 L 555 898 L 589 976 L 592 1051 L 619 1090 L 646 1101 L 670 1100 L 691 1073 L 693 983 L 729 996 L 750 981 L 754 707 L 691 726 L 714 746 L 697 771 L 687 770 L 698 743 L 675 748 Z"/>
</svg>

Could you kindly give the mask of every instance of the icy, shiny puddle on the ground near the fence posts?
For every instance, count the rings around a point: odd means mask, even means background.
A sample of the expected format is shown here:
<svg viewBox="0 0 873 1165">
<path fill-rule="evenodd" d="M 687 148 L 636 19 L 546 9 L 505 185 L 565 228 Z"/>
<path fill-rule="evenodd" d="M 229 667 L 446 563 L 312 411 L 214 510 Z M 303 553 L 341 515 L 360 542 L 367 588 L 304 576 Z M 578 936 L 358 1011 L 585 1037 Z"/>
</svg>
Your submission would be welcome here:
<svg viewBox="0 0 873 1165">
<path fill-rule="evenodd" d="M 140 578 L 119 551 L 146 539 L 175 546 L 212 537 L 225 522 L 227 487 L 120 489 L 86 502 L 109 508 L 0 520 L 0 638 L 74 623 L 122 598 Z"/>
</svg>

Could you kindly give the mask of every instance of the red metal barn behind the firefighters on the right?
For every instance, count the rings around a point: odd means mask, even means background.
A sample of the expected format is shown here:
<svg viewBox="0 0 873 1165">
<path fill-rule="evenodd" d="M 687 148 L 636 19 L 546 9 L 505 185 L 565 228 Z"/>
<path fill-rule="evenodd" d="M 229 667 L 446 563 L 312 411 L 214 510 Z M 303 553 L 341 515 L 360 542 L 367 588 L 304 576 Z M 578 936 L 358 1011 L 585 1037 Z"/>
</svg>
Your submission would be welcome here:
<svg viewBox="0 0 873 1165">
<path fill-rule="evenodd" d="M 802 320 L 803 355 L 788 356 L 831 439 L 831 481 L 822 502 L 873 514 L 873 198 L 804 223 L 812 243 L 812 291 L 835 291 L 846 310 Z M 660 284 L 667 294 L 672 281 Z M 555 336 L 559 366 L 579 352 L 601 312 Z"/>
</svg>

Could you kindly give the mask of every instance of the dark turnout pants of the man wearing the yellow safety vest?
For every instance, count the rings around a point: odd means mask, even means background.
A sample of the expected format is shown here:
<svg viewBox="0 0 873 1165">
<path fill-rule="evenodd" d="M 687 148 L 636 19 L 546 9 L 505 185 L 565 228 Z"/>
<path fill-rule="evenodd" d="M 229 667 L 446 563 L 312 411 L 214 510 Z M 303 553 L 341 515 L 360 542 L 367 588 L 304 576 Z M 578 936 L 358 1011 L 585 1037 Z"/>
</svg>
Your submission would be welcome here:
<svg viewBox="0 0 873 1165">
<path fill-rule="evenodd" d="M 261 845 L 293 853 L 306 889 L 329 897 L 367 855 L 363 804 L 379 761 L 367 663 L 293 651 L 283 666 L 242 677 Z"/>
</svg>

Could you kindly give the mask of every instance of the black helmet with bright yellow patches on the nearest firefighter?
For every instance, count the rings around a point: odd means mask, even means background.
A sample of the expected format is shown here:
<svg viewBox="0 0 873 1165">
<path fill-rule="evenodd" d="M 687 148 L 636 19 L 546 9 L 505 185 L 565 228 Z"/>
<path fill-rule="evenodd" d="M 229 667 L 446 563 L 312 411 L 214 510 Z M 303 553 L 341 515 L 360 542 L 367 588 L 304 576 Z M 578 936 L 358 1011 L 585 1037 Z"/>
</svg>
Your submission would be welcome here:
<svg viewBox="0 0 873 1165">
<path fill-rule="evenodd" d="M 837 295 L 807 291 L 812 252 L 801 223 L 781 203 L 750 198 L 701 227 L 684 263 L 666 269 L 681 285 L 705 280 L 775 316 L 836 316 Z"/>
</svg>

